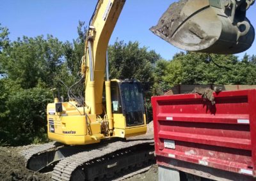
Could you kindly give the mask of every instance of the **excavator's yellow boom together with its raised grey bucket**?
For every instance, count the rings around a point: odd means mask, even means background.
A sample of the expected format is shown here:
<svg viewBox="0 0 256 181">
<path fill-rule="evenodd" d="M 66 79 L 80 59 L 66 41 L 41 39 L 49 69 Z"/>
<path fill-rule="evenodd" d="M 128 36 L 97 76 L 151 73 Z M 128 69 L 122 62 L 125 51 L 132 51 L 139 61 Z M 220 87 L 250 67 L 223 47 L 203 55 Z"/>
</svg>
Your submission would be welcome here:
<svg viewBox="0 0 256 181">
<path fill-rule="evenodd" d="M 183 50 L 236 54 L 253 43 L 255 32 L 246 10 L 254 2 L 181 0 L 171 4 L 151 31 Z M 82 74 L 86 77 L 85 105 L 93 115 L 102 113 L 106 50 L 124 4 L 125 0 L 99 0 L 90 20 Z"/>
</svg>

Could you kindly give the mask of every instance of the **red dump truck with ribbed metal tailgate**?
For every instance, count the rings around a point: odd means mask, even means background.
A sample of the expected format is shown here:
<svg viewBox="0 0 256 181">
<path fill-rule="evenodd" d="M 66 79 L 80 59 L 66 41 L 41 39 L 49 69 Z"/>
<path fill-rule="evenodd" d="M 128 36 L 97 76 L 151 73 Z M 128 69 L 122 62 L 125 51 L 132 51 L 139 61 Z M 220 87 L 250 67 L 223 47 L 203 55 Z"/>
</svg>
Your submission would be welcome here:
<svg viewBox="0 0 256 181">
<path fill-rule="evenodd" d="M 256 89 L 152 98 L 159 181 L 254 180 Z"/>
</svg>

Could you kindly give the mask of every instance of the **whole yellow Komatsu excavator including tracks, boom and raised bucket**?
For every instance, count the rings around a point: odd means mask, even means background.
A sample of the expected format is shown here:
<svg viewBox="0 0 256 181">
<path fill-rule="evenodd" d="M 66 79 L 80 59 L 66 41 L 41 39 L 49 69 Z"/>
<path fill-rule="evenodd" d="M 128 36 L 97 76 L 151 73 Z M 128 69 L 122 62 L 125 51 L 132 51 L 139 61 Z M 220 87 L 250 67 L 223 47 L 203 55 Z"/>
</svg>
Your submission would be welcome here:
<svg viewBox="0 0 256 181">
<path fill-rule="evenodd" d="M 184 50 L 243 52 L 255 36 L 246 19 L 253 3 L 182 0 L 151 31 Z M 27 168 L 52 171 L 52 180 L 112 179 L 154 160 L 152 137 L 136 137 L 147 132 L 143 86 L 135 80 L 109 80 L 106 52 L 124 4 L 98 1 L 86 36 L 81 80 L 68 89 L 68 102 L 55 98 L 47 106 L 47 133 L 55 142 L 24 150 Z M 79 83 L 84 83 L 85 98 L 72 92 Z"/>
</svg>

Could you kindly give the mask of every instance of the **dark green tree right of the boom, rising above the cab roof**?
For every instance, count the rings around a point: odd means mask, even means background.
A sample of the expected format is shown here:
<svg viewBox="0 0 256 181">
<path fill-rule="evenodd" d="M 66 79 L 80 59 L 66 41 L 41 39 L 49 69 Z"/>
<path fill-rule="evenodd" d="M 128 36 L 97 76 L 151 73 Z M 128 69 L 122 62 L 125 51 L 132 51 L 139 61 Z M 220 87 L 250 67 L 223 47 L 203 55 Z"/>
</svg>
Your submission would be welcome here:
<svg viewBox="0 0 256 181">
<path fill-rule="evenodd" d="M 108 48 L 109 73 L 111 78 L 135 78 L 141 82 L 154 82 L 154 64 L 160 59 L 160 55 L 147 47 L 140 48 L 138 41 L 124 43 L 115 41 Z"/>
</svg>

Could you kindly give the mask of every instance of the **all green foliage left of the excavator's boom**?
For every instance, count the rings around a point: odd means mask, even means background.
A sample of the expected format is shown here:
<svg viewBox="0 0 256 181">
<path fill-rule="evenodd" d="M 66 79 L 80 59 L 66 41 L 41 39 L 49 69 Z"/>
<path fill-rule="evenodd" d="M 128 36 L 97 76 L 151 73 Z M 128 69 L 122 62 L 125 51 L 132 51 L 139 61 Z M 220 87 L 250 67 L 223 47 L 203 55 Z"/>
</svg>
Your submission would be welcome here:
<svg viewBox="0 0 256 181">
<path fill-rule="evenodd" d="M 0 27 L 0 31 L 3 31 L 0 34 L 0 143 L 22 145 L 45 141 L 46 106 L 52 102 L 50 89 L 58 87 L 59 80 L 67 85 L 74 83 L 80 58 L 72 64 L 76 67 L 73 69 L 68 62 L 77 57 L 71 59 L 67 54 L 83 54 L 83 41 L 73 41 L 73 45 L 48 35 L 47 38 L 24 36 L 10 42 L 8 29 Z M 68 50 L 67 45 L 71 46 Z"/>
</svg>

